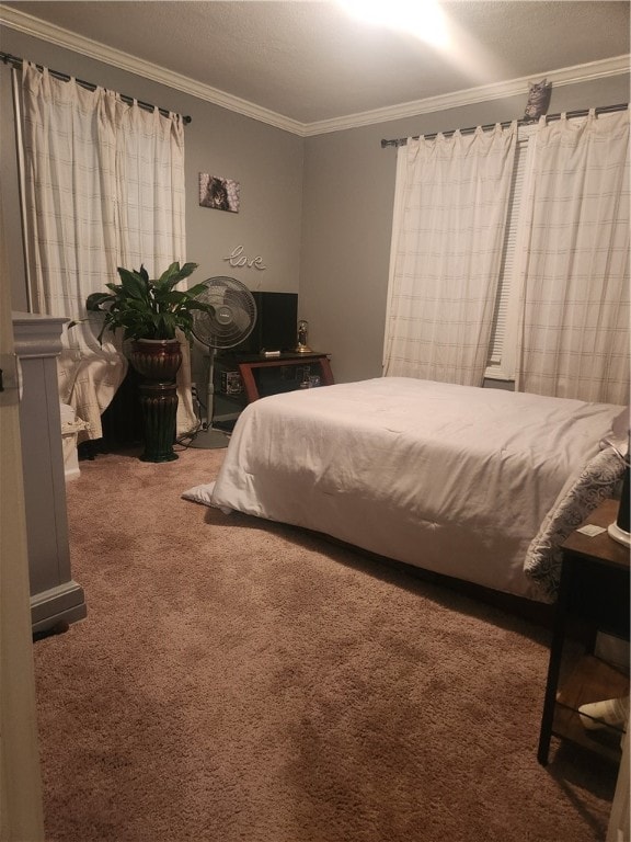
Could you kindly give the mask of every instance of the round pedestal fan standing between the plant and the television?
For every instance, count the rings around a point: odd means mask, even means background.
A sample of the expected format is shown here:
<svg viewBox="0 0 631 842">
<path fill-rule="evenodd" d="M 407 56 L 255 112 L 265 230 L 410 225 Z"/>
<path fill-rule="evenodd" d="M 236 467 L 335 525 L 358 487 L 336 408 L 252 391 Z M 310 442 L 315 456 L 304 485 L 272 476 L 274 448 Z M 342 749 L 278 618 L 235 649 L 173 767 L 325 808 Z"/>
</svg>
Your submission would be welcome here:
<svg viewBox="0 0 631 842">
<path fill-rule="evenodd" d="M 215 357 L 217 351 L 243 342 L 256 322 L 256 301 L 245 284 L 234 277 L 211 277 L 197 300 L 210 304 L 215 315 L 194 310 L 193 335 L 208 349 L 208 382 L 206 391 L 206 423 L 191 447 L 226 447 L 227 434 L 213 428 L 215 403 Z"/>
</svg>

